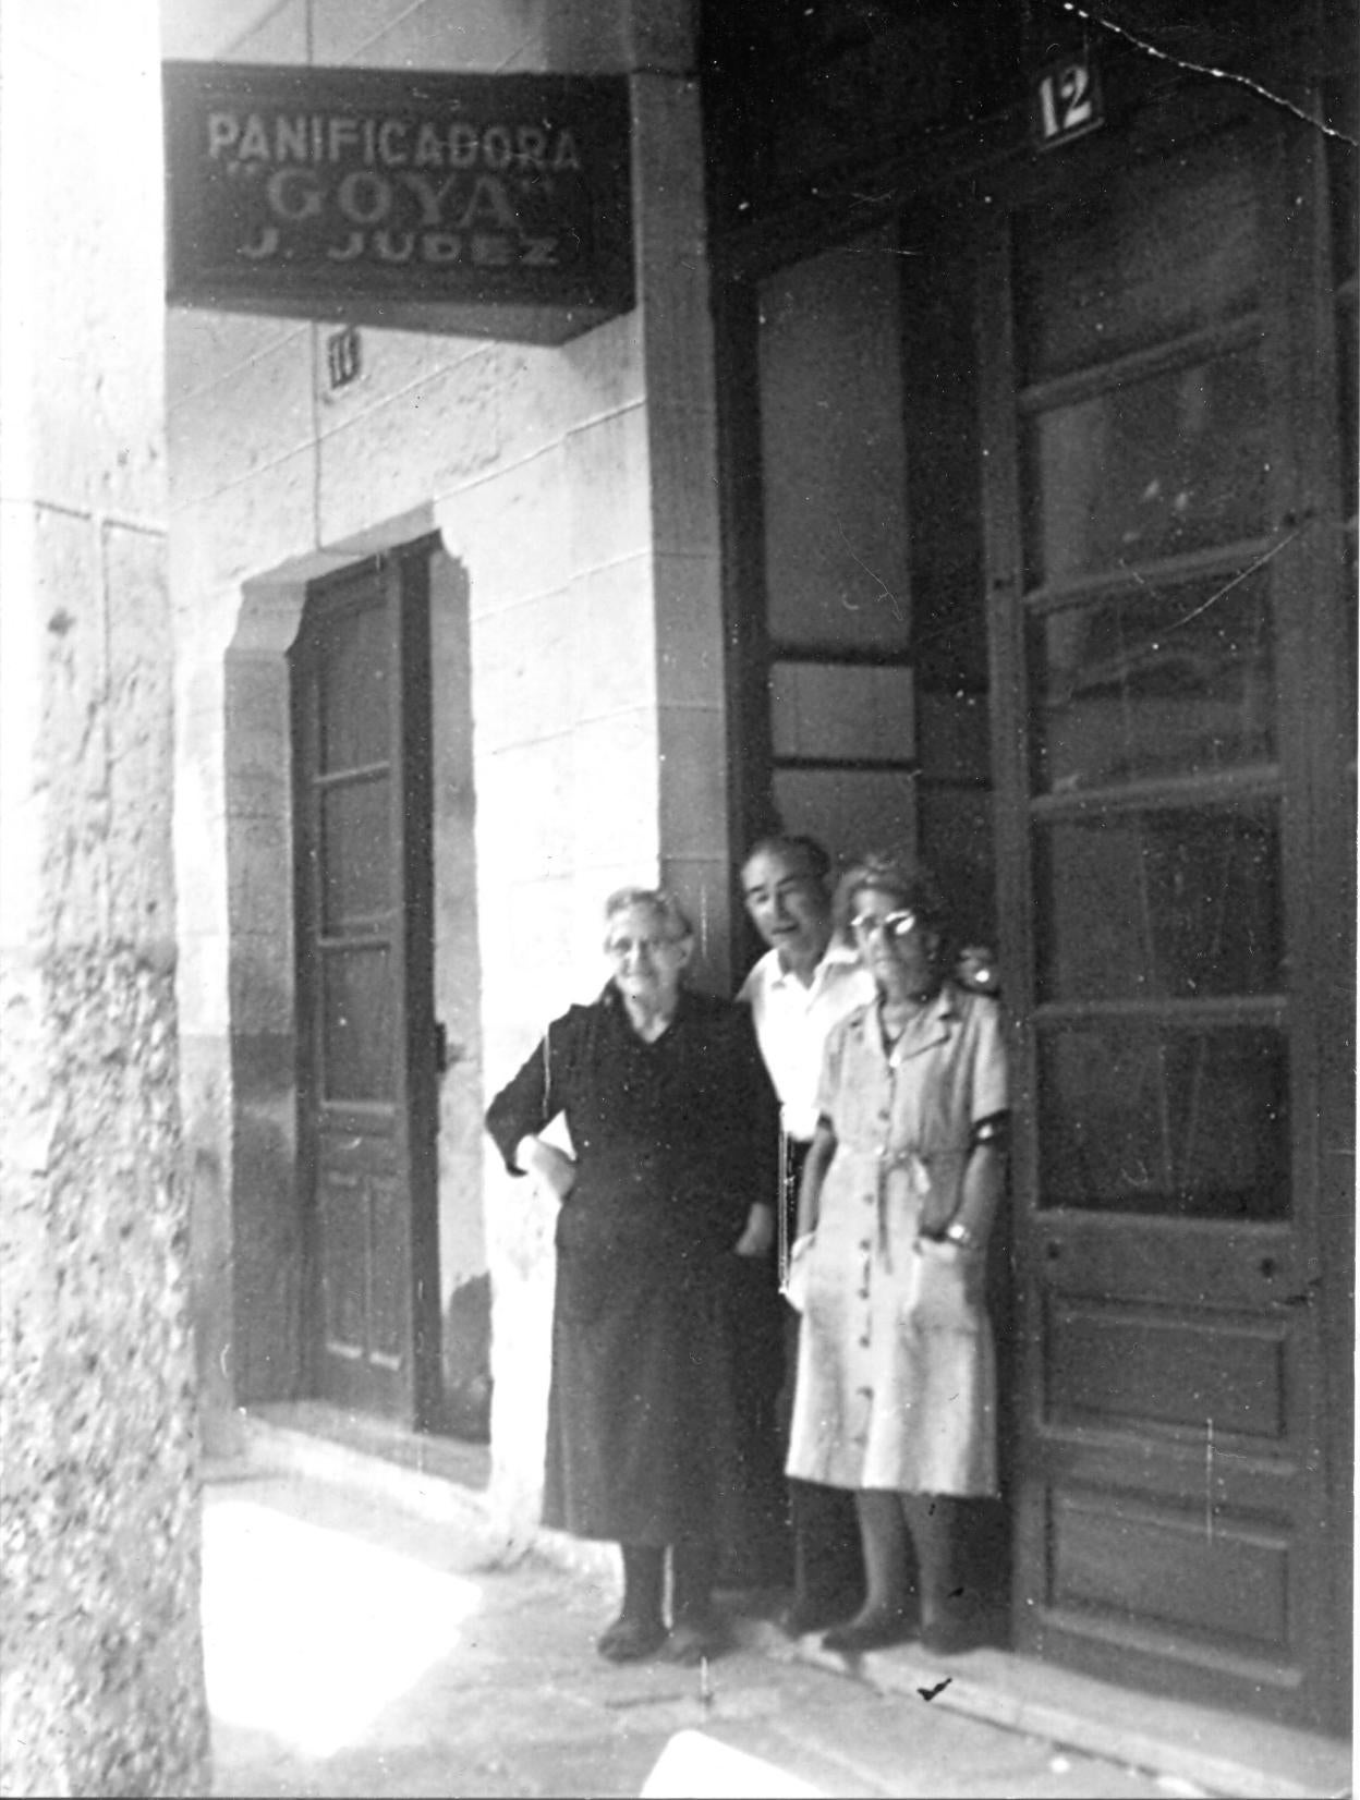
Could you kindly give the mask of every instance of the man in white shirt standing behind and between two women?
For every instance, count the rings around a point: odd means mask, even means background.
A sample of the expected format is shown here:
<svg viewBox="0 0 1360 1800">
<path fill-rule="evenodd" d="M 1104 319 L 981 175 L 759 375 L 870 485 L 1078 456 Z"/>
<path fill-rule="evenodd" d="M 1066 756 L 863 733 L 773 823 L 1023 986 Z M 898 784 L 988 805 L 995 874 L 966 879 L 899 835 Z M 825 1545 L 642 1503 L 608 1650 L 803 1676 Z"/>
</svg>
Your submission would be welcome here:
<svg viewBox="0 0 1360 1800">
<path fill-rule="evenodd" d="M 769 945 L 740 986 L 760 1053 L 780 1100 L 780 1280 L 787 1271 L 798 1177 L 816 1130 L 816 1091 L 827 1033 L 874 999 L 874 977 L 854 950 L 830 941 L 830 859 L 811 837 L 762 837 L 742 864 L 751 923 Z M 780 1429 L 787 1440 L 798 1366 L 798 1314 L 785 1327 Z M 784 1616 L 793 1636 L 850 1618 L 863 1597 L 854 1496 L 791 1481 L 794 1600 Z"/>
</svg>

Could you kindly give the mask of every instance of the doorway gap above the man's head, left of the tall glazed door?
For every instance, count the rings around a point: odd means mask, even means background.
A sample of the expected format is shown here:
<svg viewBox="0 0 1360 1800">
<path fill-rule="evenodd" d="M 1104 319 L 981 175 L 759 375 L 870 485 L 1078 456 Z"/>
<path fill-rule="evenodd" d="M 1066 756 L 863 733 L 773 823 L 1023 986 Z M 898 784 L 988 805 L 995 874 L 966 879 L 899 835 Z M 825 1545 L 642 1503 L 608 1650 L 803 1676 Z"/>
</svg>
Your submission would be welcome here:
<svg viewBox="0 0 1360 1800">
<path fill-rule="evenodd" d="M 966 936 L 991 941 L 966 256 L 922 211 L 753 283 L 760 482 L 740 529 L 758 536 L 758 625 L 746 621 L 758 742 L 742 761 L 758 790 L 748 837 L 773 805 L 836 862 L 917 848 Z"/>
</svg>

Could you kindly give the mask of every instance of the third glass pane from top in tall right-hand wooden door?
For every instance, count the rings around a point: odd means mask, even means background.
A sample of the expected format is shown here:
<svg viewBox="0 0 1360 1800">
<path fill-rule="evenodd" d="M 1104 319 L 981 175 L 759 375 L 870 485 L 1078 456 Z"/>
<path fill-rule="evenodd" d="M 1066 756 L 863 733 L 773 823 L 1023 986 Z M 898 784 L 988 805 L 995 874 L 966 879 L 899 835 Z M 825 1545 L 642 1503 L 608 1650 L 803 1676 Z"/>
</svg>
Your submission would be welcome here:
<svg viewBox="0 0 1360 1800">
<path fill-rule="evenodd" d="M 1147 585 L 1029 626 L 1039 792 L 1270 761 L 1275 657 L 1266 578 Z"/>
</svg>

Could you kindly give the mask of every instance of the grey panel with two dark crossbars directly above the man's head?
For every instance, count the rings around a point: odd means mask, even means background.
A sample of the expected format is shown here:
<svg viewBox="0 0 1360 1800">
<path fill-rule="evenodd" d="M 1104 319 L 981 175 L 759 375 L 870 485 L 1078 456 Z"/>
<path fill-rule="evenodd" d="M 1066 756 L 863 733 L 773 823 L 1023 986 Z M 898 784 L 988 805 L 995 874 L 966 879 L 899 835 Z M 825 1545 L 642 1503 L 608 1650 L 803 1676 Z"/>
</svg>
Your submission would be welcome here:
<svg viewBox="0 0 1360 1800">
<path fill-rule="evenodd" d="M 892 227 L 757 284 L 767 805 L 834 860 L 917 828 Z M 773 819 L 769 812 L 773 810 Z"/>
</svg>

